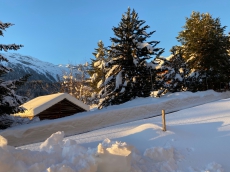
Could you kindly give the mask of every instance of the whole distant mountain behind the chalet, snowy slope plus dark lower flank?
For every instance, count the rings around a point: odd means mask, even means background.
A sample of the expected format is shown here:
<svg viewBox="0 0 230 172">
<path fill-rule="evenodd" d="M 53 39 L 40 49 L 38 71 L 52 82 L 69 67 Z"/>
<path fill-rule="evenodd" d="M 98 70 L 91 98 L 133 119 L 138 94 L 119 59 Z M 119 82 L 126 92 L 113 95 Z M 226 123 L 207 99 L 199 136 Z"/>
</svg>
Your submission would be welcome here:
<svg viewBox="0 0 230 172">
<path fill-rule="evenodd" d="M 63 76 L 70 72 L 79 80 L 82 79 L 82 75 L 84 78 L 89 78 L 86 72 L 88 70 L 87 65 L 54 65 L 18 53 L 0 54 L 8 59 L 8 62 L 2 62 L 2 64 L 13 70 L 5 74 L 3 80 L 19 79 L 25 74 L 31 74 L 25 85 L 16 91 L 18 95 L 26 96 L 29 99 L 59 92 Z"/>
</svg>

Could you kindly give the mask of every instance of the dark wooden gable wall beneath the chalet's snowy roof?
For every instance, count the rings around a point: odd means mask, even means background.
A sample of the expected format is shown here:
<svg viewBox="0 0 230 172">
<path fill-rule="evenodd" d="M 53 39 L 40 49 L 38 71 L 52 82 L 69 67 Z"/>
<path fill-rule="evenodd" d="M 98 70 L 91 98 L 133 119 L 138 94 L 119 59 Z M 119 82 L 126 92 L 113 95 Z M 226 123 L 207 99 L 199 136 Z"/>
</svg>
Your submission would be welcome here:
<svg viewBox="0 0 230 172">
<path fill-rule="evenodd" d="M 40 120 L 56 119 L 84 111 L 86 110 L 68 101 L 67 99 L 63 99 L 62 101 L 39 113 L 37 116 L 40 118 Z"/>
</svg>

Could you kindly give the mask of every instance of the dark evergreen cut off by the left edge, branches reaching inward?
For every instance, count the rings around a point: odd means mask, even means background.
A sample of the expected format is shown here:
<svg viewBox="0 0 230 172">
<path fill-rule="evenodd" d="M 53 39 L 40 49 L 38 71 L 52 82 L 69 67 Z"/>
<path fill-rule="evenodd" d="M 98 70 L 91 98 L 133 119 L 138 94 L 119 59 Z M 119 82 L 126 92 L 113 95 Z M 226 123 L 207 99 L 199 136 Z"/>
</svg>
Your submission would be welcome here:
<svg viewBox="0 0 230 172">
<path fill-rule="evenodd" d="M 11 23 L 2 23 L 0 21 L 0 36 L 3 36 L 3 31 L 12 25 Z M 22 47 L 22 45 L 0 44 L 0 51 L 18 50 L 20 47 Z M 26 98 L 16 95 L 15 90 L 26 82 L 29 77 L 29 75 L 26 75 L 19 80 L 2 80 L 2 76 L 11 71 L 10 68 L 2 64 L 4 61 L 8 62 L 8 60 L 0 54 L 0 129 L 5 129 L 12 123 L 12 121 L 7 120 L 9 118 L 6 118 L 6 115 L 24 111 L 24 109 L 19 106 L 25 102 Z"/>
</svg>

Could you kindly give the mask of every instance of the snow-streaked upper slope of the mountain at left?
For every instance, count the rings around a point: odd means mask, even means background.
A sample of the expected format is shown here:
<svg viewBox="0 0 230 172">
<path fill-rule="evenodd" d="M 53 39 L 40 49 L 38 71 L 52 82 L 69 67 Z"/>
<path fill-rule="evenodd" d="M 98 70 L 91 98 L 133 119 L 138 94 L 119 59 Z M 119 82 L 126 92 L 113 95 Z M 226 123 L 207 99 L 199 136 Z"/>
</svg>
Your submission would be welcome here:
<svg viewBox="0 0 230 172">
<path fill-rule="evenodd" d="M 54 65 L 49 62 L 41 61 L 31 56 L 25 56 L 18 53 L 0 53 L 9 62 L 3 62 L 4 65 L 13 69 L 6 75 L 6 79 L 18 79 L 25 74 L 31 74 L 29 80 L 42 80 L 45 82 L 57 82 L 62 79 L 65 72 L 69 72 L 68 65 Z M 79 73 L 79 70 L 73 70 Z"/>
</svg>

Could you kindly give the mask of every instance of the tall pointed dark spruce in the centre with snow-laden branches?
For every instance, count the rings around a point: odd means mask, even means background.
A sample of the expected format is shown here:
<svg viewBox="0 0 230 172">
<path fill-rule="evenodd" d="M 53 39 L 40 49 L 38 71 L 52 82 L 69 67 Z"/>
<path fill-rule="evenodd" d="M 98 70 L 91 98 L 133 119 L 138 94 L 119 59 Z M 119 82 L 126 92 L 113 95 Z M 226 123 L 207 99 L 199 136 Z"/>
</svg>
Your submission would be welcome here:
<svg viewBox="0 0 230 172">
<path fill-rule="evenodd" d="M 150 95 L 152 75 L 146 60 L 164 50 L 155 48 L 159 41 L 147 41 L 155 31 L 147 33 L 149 26 L 144 23 L 128 8 L 118 27 L 113 27 L 115 37 L 111 38 L 105 82 L 100 85 L 103 99 L 99 108 Z"/>
</svg>

